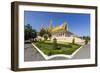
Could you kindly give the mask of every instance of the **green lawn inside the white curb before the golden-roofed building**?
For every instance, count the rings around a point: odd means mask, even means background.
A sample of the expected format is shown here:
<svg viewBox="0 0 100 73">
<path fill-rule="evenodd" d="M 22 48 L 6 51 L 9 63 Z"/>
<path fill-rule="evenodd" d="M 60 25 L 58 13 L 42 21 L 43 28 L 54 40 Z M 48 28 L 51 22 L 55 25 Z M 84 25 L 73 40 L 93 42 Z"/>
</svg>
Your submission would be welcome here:
<svg viewBox="0 0 100 73">
<path fill-rule="evenodd" d="M 58 43 L 58 46 L 60 46 L 60 49 L 55 49 L 53 48 L 53 43 L 51 41 L 34 42 L 34 44 L 46 55 L 54 55 L 54 54 L 71 55 L 75 50 L 77 50 L 81 46 L 78 44 L 61 42 L 61 43 Z"/>
</svg>

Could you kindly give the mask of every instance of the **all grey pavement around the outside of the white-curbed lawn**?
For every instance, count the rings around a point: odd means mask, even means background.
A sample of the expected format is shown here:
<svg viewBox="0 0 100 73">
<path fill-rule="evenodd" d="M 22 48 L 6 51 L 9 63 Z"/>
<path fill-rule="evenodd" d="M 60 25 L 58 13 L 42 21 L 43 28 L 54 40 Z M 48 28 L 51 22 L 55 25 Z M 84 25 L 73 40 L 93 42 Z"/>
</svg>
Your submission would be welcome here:
<svg viewBox="0 0 100 73">
<path fill-rule="evenodd" d="M 87 59 L 90 58 L 90 45 L 83 46 L 72 59 Z M 65 57 L 55 57 L 50 60 L 66 60 Z M 45 61 L 45 58 L 32 46 L 25 44 L 24 61 Z"/>
</svg>

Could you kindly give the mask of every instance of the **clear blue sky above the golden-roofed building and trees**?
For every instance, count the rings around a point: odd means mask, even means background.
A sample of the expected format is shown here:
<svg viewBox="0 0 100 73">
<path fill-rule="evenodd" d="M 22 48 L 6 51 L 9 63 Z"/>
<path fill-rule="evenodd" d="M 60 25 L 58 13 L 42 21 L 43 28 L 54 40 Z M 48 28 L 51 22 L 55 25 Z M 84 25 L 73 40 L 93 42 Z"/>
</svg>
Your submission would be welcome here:
<svg viewBox="0 0 100 73">
<path fill-rule="evenodd" d="M 61 12 L 37 12 L 24 11 L 24 24 L 30 24 L 33 29 L 39 31 L 40 26 L 68 24 L 68 30 L 79 36 L 90 36 L 90 14 L 61 13 Z"/>
</svg>

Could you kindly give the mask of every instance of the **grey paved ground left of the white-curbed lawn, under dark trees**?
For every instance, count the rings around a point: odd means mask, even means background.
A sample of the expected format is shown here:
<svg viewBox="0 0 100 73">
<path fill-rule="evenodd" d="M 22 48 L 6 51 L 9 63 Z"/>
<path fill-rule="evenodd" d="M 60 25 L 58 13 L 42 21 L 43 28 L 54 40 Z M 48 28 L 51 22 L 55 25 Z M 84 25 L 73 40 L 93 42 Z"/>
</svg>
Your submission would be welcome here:
<svg viewBox="0 0 100 73">
<path fill-rule="evenodd" d="M 32 46 L 32 44 L 24 45 L 24 61 L 43 61 L 44 57 Z"/>
</svg>

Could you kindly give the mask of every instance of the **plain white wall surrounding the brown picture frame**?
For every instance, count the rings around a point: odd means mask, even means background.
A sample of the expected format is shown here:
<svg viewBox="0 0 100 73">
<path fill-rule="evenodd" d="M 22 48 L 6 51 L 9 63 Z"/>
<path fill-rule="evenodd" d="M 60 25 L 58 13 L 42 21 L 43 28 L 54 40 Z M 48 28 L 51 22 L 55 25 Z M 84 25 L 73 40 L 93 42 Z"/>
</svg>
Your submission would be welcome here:
<svg viewBox="0 0 100 73">
<path fill-rule="evenodd" d="M 14 0 L 0 0 L 0 73 L 14 73 L 10 70 L 10 54 L 11 54 L 11 13 L 10 3 Z M 98 5 L 100 13 L 100 0 L 20 0 L 20 1 L 33 1 L 45 3 L 62 3 L 62 4 L 81 4 L 81 5 Z M 100 14 L 98 14 L 99 19 Z M 99 22 L 100 23 L 100 22 Z M 99 24 L 98 23 L 98 24 Z M 98 25 L 98 28 L 100 25 Z M 100 29 L 98 30 L 100 31 Z M 100 37 L 100 33 L 99 36 Z M 100 38 L 98 39 L 100 40 Z M 100 43 L 100 42 L 99 42 Z M 100 46 L 98 48 L 100 52 Z M 100 56 L 100 53 L 98 54 Z M 99 57 L 100 61 L 100 57 Z M 55 69 L 55 70 L 40 70 L 34 73 L 99 73 L 100 62 L 98 67 L 86 68 L 70 68 L 70 69 Z M 25 73 L 33 73 L 33 71 L 26 71 Z"/>
</svg>

